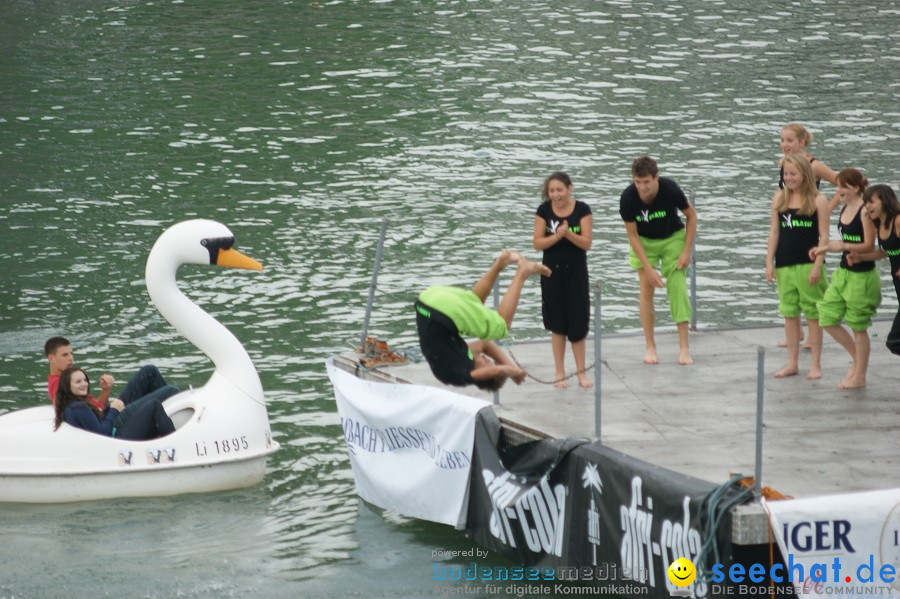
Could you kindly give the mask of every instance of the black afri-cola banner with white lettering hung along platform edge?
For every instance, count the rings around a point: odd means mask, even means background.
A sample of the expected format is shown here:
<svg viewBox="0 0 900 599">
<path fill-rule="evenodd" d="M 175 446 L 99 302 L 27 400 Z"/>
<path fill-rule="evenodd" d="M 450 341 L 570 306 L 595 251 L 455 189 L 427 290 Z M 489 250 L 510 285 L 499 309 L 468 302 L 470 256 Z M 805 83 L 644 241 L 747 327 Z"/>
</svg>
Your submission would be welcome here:
<svg viewBox="0 0 900 599">
<path fill-rule="evenodd" d="M 701 506 L 714 485 L 586 440 L 500 449 L 499 436 L 493 410 L 479 412 L 468 536 L 510 560 L 552 569 L 557 580 L 628 583 L 649 597 L 685 591 L 667 570 L 680 557 L 700 566 Z M 719 559 L 731 555 L 729 536 L 717 539 Z M 688 588 L 702 598 L 707 587 L 698 578 Z"/>
</svg>

